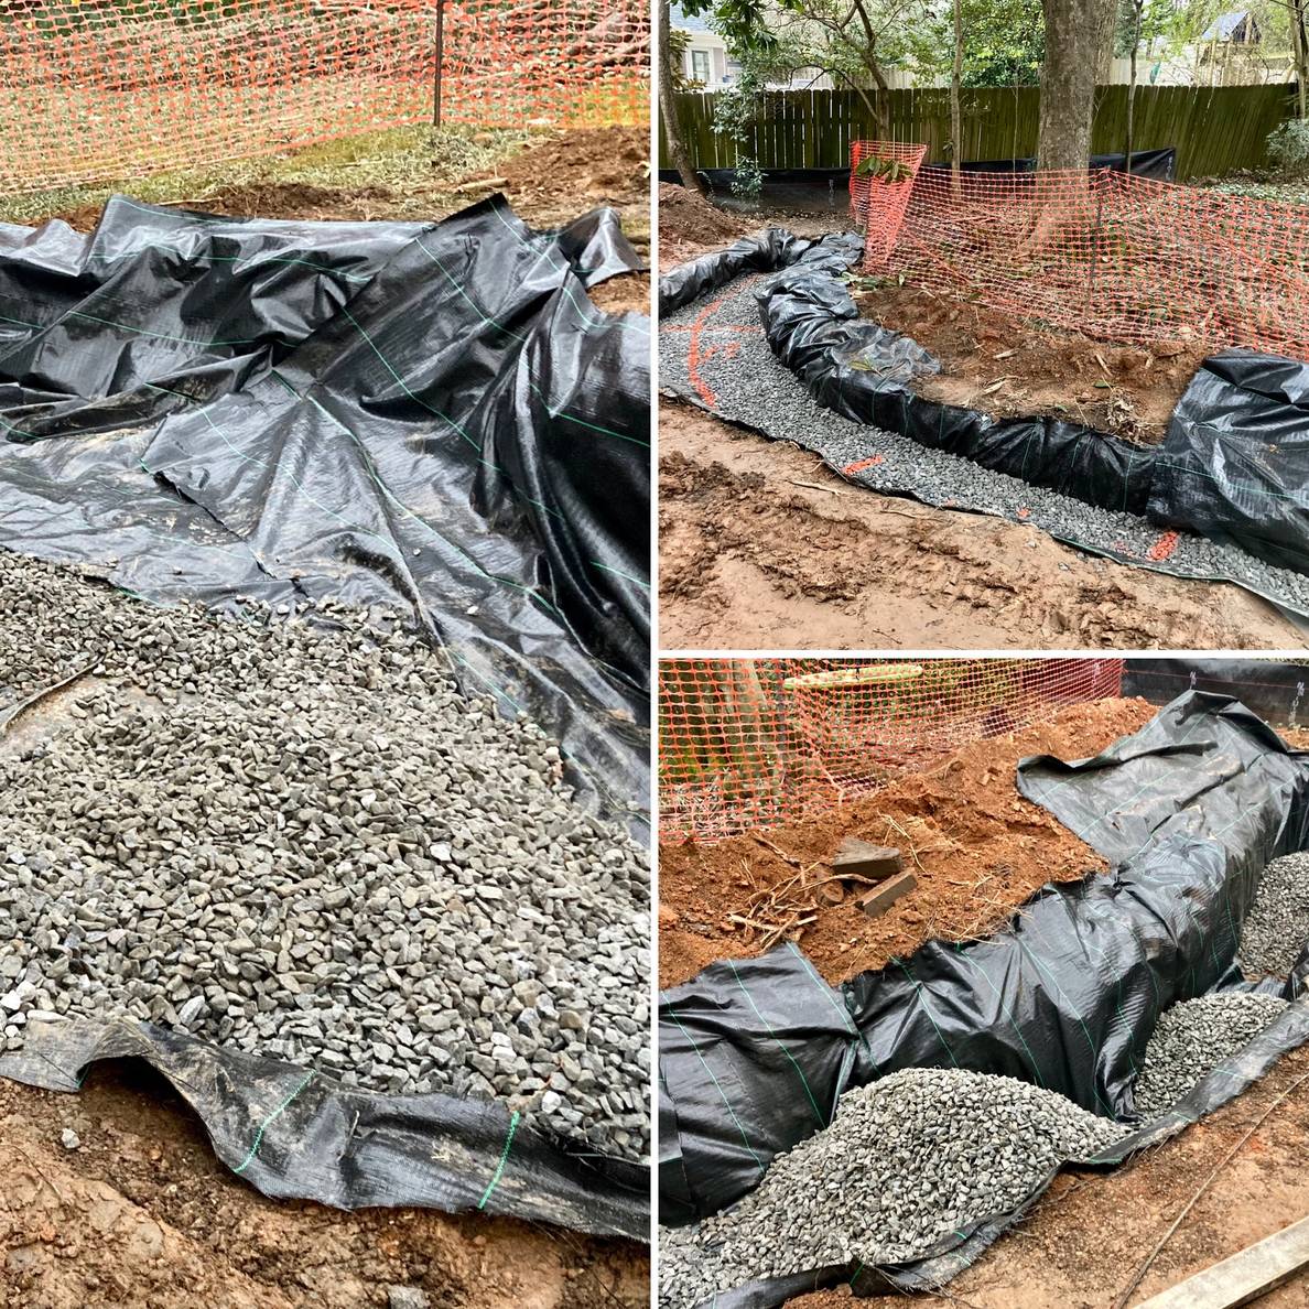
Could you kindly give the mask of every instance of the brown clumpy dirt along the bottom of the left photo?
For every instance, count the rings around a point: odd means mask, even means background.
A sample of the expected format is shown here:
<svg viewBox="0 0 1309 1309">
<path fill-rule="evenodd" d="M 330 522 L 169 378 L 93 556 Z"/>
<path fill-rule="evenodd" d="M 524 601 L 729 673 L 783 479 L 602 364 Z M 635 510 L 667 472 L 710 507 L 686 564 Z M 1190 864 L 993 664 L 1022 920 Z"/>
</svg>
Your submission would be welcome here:
<svg viewBox="0 0 1309 1309">
<path fill-rule="evenodd" d="M 385 1309 L 389 1285 L 437 1309 L 637 1309 L 649 1276 L 634 1242 L 264 1199 L 162 1079 L 126 1064 L 77 1096 L 0 1080 L 0 1259 L 3 1309 Z"/>
</svg>

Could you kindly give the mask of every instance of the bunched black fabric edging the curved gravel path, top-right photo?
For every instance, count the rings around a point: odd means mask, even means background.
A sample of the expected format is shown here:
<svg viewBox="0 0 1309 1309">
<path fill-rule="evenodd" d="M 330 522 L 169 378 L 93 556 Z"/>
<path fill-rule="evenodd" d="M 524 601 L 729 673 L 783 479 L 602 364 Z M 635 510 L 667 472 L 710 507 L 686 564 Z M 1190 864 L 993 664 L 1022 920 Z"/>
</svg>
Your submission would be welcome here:
<svg viewBox="0 0 1309 1309">
<path fill-rule="evenodd" d="M 857 233 L 800 241 L 770 228 L 672 270 L 660 283 L 661 313 L 744 272 L 771 270 L 757 292 L 768 346 L 819 404 L 842 418 L 1309 573 L 1309 364 L 1237 348 L 1211 356 L 1189 382 L 1158 446 L 1049 415 L 996 418 L 918 394 L 915 380 L 940 372 L 940 363 L 912 339 L 860 317 L 844 279 L 861 251 Z M 1158 572 L 1179 571 L 1166 554 L 1103 552 Z M 1229 580 L 1250 585 L 1240 576 Z M 1297 611 L 1289 597 L 1268 598 Z"/>
</svg>

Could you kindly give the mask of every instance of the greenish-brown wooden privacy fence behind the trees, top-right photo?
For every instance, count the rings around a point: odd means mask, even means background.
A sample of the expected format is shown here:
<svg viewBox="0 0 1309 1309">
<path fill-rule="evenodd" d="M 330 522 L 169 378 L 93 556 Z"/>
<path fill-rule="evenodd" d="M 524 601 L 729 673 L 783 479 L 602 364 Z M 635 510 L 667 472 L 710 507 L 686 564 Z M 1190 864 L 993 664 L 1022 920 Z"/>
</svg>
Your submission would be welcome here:
<svg viewBox="0 0 1309 1309">
<path fill-rule="evenodd" d="M 851 143 L 886 135 L 895 141 L 922 141 L 927 158 L 946 158 L 950 140 L 950 93 L 945 88 L 885 93 L 890 114 L 880 132 L 856 92 L 767 92 L 745 153 L 761 166 L 848 168 Z M 997 160 L 1035 154 L 1041 115 L 1037 86 L 987 86 L 962 93 L 963 160 Z M 737 147 L 713 131 L 713 94 L 681 93 L 678 119 L 698 168 L 733 168 Z M 1177 147 L 1177 179 L 1210 177 L 1266 162 L 1264 140 L 1292 117 L 1292 88 L 1279 86 L 1140 86 L 1136 90 L 1132 147 L 1139 151 Z M 1097 93 L 1092 151 L 1122 151 L 1127 136 L 1127 88 L 1101 86 Z M 661 148 L 661 168 L 672 168 Z"/>
</svg>

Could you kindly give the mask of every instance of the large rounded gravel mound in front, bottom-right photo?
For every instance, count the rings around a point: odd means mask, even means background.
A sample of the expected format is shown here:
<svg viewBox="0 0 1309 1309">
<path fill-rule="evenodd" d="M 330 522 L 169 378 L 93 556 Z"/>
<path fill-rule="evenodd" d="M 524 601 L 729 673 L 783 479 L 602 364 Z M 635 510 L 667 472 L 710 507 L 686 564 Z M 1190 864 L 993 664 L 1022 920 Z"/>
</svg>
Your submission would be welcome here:
<svg viewBox="0 0 1309 1309">
<path fill-rule="evenodd" d="M 660 1233 L 660 1304 L 690 1309 L 757 1278 L 898 1263 L 1029 1196 L 1126 1134 L 1013 1077 L 908 1068 L 847 1092 L 734 1208 Z"/>
</svg>

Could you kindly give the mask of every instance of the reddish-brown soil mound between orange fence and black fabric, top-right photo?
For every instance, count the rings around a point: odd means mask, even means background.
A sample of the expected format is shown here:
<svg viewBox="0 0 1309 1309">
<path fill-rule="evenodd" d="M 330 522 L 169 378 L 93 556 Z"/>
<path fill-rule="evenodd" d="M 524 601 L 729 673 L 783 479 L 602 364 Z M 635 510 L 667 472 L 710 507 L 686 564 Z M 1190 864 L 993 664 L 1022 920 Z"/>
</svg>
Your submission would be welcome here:
<svg viewBox="0 0 1309 1309">
<path fill-rule="evenodd" d="M 869 280 L 877 285 L 852 288 L 863 315 L 912 336 L 941 361 L 941 373 L 915 390 L 999 418 L 1050 414 L 1152 445 L 1211 353 L 1195 342 L 1109 346 L 924 287 Z"/>
</svg>

